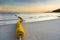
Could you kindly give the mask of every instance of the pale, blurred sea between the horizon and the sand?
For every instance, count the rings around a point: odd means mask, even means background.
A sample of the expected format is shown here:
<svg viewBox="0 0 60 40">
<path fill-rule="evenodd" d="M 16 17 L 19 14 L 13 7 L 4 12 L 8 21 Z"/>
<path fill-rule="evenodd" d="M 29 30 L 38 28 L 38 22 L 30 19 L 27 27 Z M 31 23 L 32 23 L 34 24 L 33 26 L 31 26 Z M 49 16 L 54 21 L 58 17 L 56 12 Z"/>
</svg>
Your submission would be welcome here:
<svg viewBox="0 0 60 40">
<path fill-rule="evenodd" d="M 57 19 L 60 13 L 20 13 L 20 12 L 0 12 L 0 25 L 16 23 L 21 16 L 24 22 L 46 21 Z"/>
</svg>

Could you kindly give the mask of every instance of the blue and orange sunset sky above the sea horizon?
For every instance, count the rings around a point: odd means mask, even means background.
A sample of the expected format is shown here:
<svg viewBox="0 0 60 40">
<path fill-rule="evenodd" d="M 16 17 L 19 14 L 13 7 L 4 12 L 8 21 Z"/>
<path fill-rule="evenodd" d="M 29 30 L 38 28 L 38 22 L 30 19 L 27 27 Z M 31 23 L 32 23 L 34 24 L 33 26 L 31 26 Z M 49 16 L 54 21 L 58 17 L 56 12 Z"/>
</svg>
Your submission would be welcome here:
<svg viewBox="0 0 60 40">
<path fill-rule="evenodd" d="M 60 8 L 60 0 L 0 0 L 0 11 L 50 12 Z"/>
</svg>

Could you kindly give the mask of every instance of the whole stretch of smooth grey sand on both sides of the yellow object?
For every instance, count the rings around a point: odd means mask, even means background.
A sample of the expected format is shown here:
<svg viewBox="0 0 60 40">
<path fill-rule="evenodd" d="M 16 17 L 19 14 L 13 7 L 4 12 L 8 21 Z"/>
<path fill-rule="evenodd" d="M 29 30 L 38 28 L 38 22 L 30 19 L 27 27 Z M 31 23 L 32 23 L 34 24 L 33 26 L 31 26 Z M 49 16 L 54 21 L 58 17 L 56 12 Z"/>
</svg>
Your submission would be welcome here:
<svg viewBox="0 0 60 40">
<path fill-rule="evenodd" d="M 0 40 L 16 40 L 15 24 L 0 25 Z M 60 40 L 60 18 L 23 23 L 24 40 Z"/>
</svg>

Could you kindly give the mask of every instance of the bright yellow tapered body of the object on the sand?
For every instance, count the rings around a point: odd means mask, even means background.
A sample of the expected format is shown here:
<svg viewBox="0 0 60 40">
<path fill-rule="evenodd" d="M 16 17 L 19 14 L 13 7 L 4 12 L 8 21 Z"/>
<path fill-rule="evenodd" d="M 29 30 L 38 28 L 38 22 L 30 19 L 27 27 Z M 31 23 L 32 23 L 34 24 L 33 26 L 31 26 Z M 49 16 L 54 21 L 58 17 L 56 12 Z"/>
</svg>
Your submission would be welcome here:
<svg viewBox="0 0 60 40">
<path fill-rule="evenodd" d="M 22 26 L 22 23 L 20 20 L 18 20 L 17 24 L 16 24 L 16 37 L 19 38 L 19 37 L 24 37 L 24 29 L 23 29 L 23 26 Z"/>
</svg>

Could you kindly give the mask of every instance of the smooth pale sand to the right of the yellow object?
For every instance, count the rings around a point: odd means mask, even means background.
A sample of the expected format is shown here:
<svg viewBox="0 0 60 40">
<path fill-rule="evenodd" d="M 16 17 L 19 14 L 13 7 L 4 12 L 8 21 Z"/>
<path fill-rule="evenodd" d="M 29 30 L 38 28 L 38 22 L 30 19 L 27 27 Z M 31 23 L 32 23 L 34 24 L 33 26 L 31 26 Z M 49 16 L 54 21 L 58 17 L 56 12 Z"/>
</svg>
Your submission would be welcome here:
<svg viewBox="0 0 60 40">
<path fill-rule="evenodd" d="M 60 40 L 60 18 L 24 23 L 25 40 Z"/>
</svg>

